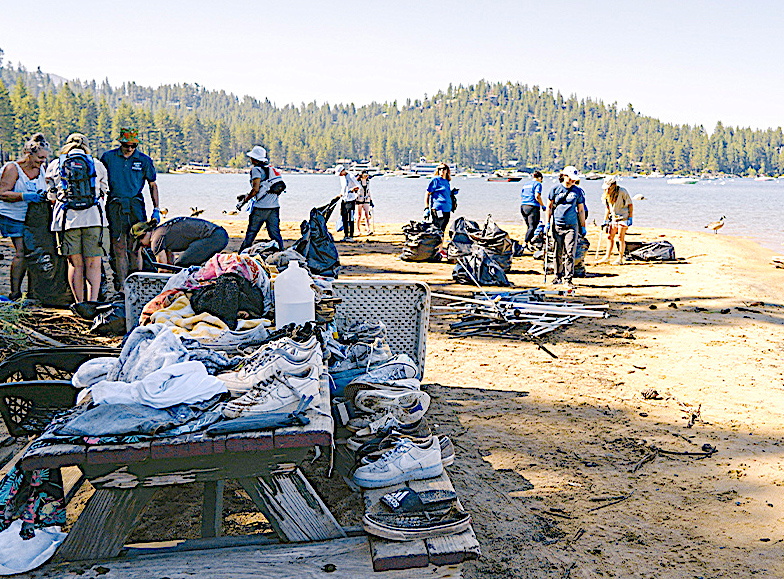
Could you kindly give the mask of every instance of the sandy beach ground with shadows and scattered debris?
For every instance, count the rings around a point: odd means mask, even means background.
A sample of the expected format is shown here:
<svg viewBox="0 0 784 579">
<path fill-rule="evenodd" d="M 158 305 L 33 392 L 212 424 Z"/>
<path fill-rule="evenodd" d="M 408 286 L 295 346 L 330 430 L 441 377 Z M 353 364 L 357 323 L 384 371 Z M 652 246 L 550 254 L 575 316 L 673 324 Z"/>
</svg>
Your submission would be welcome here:
<svg viewBox="0 0 784 579">
<path fill-rule="evenodd" d="M 246 222 L 222 224 L 238 247 Z M 282 229 L 299 236 L 298 224 Z M 598 234 L 589 229 L 594 248 Z M 576 299 L 609 304 L 610 317 L 550 334 L 557 359 L 528 342 L 455 339 L 431 317 L 423 388 L 456 446 L 448 471 L 482 547 L 465 577 L 784 576 L 784 270 L 744 239 L 629 236 L 659 238 L 685 259 L 589 267 L 575 280 Z M 400 226 L 378 226 L 339 243 L 341 277 L 473 291 L 452 282 L 450 264 L 400 261 L 402 242 Z M 8 240 L 0 247 L 6 293 Z M 541 286 L 541 262 L 517 258 L 509 277 Z M 644 399 L 649 389 L 659 399 Z M 670 454 L 706 444 L 717 452 Z M 327 502 L 358 506 L 341 484 L 316 483 Z M 341 510 L 356 524 L 359 513 Z"/>
</svg>

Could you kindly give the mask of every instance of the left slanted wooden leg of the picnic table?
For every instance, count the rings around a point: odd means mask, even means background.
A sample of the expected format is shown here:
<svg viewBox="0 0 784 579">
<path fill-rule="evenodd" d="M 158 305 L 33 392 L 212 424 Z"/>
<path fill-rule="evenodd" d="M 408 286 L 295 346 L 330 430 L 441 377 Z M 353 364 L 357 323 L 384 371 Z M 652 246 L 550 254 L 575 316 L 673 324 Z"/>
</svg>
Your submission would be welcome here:
<svg viewBox="0 0 784 579">
<path fill-rule="evenodd" d="M 55 553 L 55 561 L 116 557 L 157 489 L 97 489 L 71 532 Z"/>
</svg>

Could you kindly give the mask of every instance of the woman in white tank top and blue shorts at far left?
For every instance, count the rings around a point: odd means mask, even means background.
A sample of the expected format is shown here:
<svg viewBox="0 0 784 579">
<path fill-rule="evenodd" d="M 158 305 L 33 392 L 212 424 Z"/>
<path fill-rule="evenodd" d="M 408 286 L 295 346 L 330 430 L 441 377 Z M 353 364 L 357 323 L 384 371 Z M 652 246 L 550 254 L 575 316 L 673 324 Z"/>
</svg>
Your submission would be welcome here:
<svg viewBox="0 0 784 579">
<path fill-rule="evenodd" d="M 46 201 L 46 180 L 42 166 L 52 152 L 42 133 L 36 133 L 25 143 L 18 161 L 10 161 L 0 170 L 0 235 L 14 244 L 11 260 L 12 300 L 22 297 L 25 275 L 24 221 L 27 204 Z"/>
</svg>

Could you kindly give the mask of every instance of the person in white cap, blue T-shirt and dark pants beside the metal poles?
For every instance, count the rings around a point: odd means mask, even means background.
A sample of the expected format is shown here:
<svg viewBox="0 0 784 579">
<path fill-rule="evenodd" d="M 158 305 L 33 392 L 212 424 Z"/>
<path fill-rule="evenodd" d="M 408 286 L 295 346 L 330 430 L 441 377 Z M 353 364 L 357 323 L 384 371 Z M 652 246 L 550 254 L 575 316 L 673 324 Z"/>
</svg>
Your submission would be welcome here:
<svg viewBox="0 0 784 579">
<path fill-rule="evenodd" d="M 577 236 L 585 231 L 585 193 L 577 186 L 577 168 L 571 165 L 561 171 L 563 181 L 548 197 L 545 231 L 552 225 L 555 239 L 555 279 L 564 286 L 574 287 L 574 258 Z"/>
</svg>

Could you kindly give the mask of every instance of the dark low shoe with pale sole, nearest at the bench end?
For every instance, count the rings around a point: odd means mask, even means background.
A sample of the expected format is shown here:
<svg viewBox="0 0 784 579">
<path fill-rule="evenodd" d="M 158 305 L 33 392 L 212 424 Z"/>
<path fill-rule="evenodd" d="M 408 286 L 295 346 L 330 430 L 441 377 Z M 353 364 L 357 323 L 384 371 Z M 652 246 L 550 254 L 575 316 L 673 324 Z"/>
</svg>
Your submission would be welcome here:
<svg viewBox="0 0 784 579">
<path fill-rule="evenodd" d="M 419 513 L 368 513 L 362 518 L 362 527 L 371 535 L 392 541 L 413 541 L 444 535 L 455 535 L 471 526 L 471 515 L 453 506 L 443 514 Z"/>
</svg>

